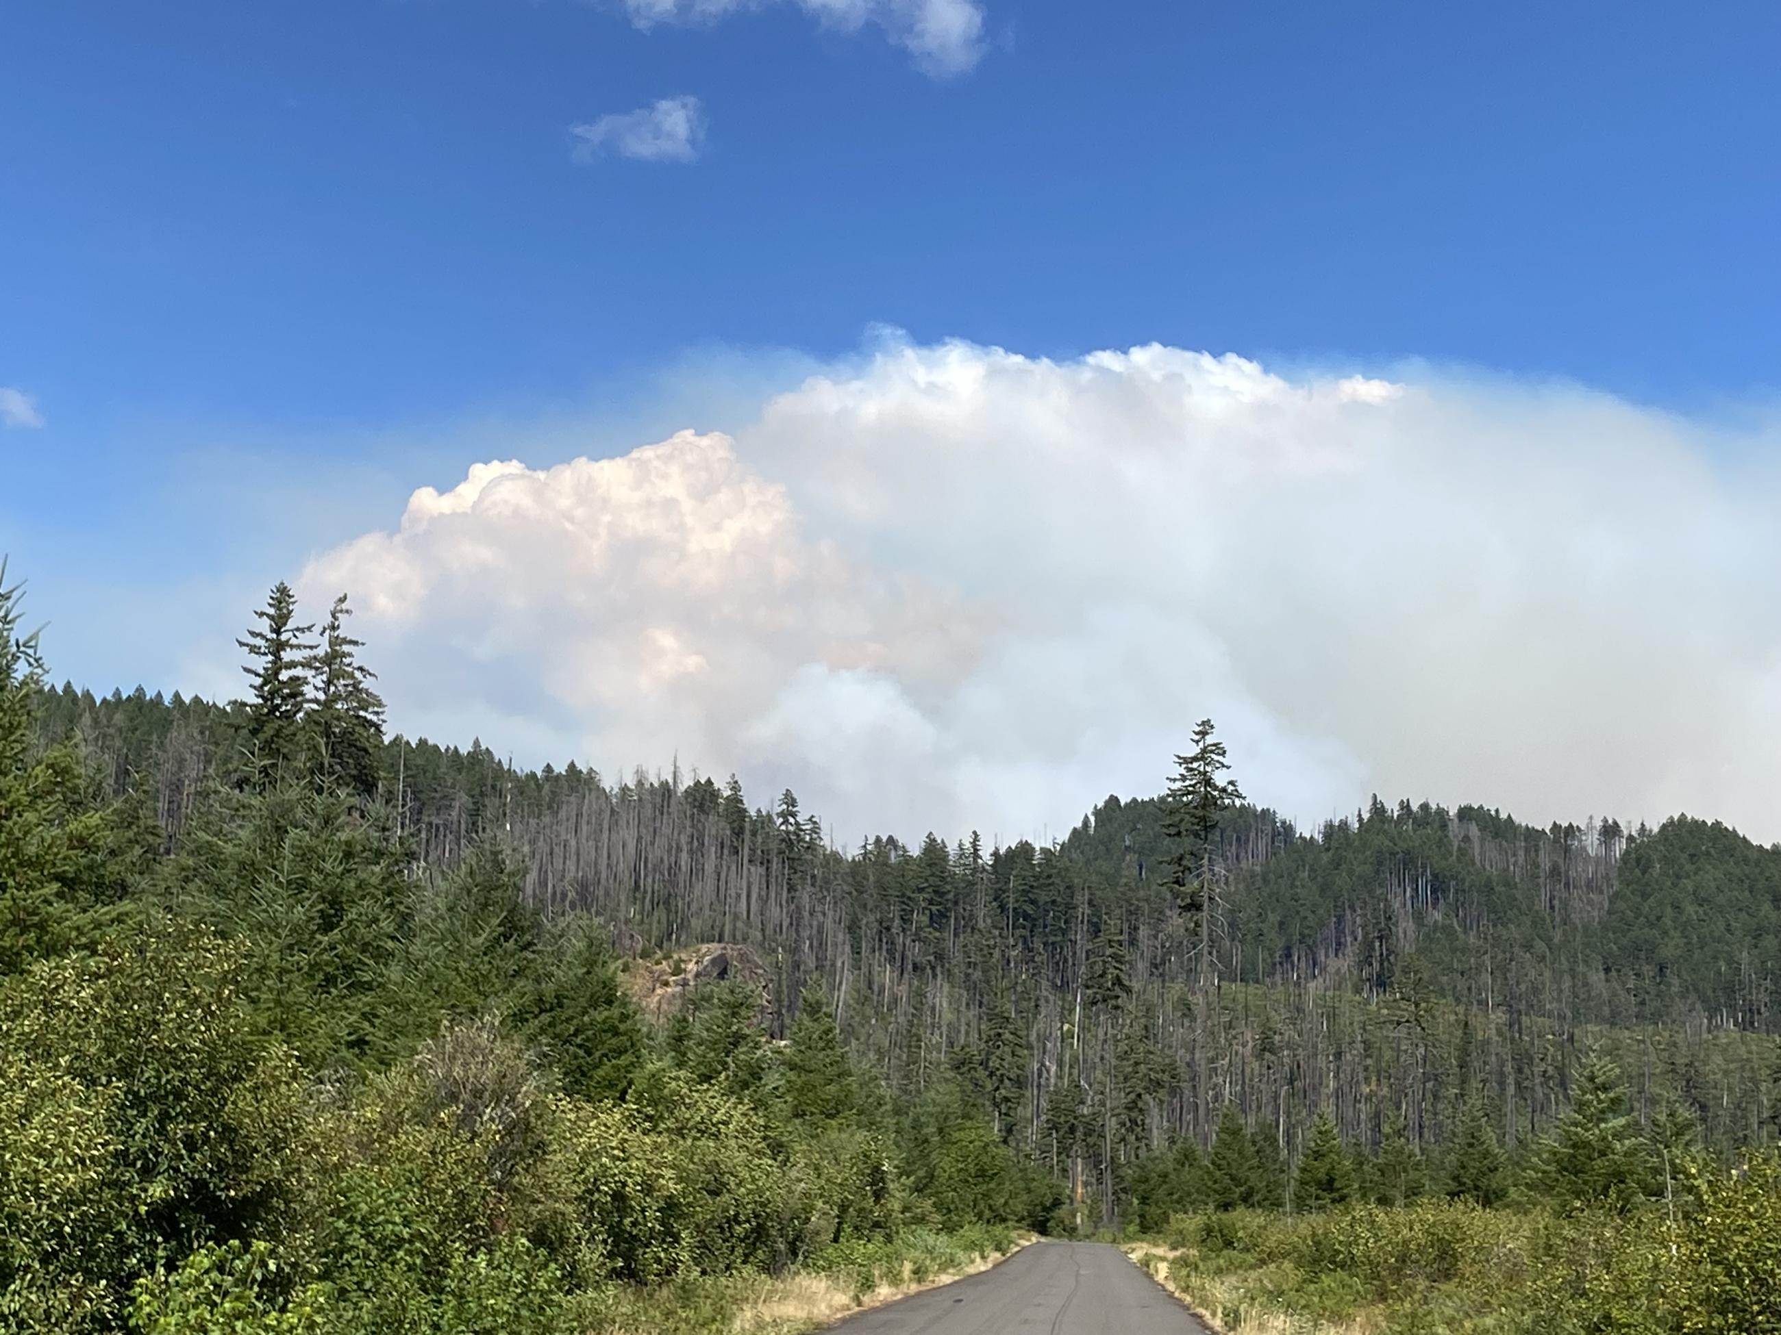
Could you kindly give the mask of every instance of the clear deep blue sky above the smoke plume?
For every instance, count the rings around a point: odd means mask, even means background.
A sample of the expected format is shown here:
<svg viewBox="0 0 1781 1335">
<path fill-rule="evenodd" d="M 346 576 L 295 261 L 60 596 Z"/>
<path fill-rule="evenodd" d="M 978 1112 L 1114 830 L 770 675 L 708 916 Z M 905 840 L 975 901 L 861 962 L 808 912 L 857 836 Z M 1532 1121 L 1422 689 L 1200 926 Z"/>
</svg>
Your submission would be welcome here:
<svg viewBox="0 0 1781 1335">
<path fill-rule="evenodd" d="M 632 21 L 693 2 L 0 11 L 0 548 L 61 673 L 176 685 L 413 488 L 743 429 L 882 326 L 1776 402 L 1767 0 Z M 679 160 L 575 132 L 670 98 Z"/>
</svg>

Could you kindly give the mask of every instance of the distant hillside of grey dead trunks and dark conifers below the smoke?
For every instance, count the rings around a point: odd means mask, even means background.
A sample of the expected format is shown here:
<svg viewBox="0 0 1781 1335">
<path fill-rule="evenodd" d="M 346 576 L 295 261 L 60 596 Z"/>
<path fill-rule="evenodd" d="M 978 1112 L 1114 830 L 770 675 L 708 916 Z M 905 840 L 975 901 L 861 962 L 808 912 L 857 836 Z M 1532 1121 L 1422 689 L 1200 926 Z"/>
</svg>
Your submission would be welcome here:
<svg viewBox="0 0 1781 1335">
<path fill-rule="evenodd" d="M 178 847 L 249 719 L 64 685 L 39 728 L 78 737 Z M 1320 1107 L 1366 1145 L 1395 1120 L 1435 1145 L 1476 1095 L 1514 1146 L 1564 1111 L 1585 1050 L 1619 1061 L 1642 1118 L 1674 1100 L 1713 1143 L 1781 1118 L 1781 851 L 1701 819 L 1537 828 L 1375 799 L 1298 831 L 1232 805 L 1200 949 L 1154 797 L 1108 797 L 1054 847 L 835 849 L 791 792 L 515 771 L 483 744 L 395 737 L 370 789 L 417 870 L 497 840 L 531 910 L 593 915 L 622 952 L 757 947 L 775 1032 L 816 983 L 885 1080 L 964 1079 L 1010 1145 L 1079 1157 L 1108 1210 L 1120 1164 L 1209 1143 L 1231 1102 L 1297 1153 Z"/>
</svg>

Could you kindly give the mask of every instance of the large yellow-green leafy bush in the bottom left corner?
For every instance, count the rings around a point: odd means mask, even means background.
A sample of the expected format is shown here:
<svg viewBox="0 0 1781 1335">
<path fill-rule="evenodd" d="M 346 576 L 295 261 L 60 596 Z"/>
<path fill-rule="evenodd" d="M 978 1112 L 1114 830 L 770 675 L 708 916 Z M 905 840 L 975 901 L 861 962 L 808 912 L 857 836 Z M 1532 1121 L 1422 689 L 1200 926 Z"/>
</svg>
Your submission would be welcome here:
<svg viewBox="0 0 1781 1335">
<path fill-rule="evenodd" d="M 0 995 L 0 1310 L 80 1328 L 292 1200 L 301 1086 L 237 1002 L 239 954 L 157 929 Z"/>
</svg>

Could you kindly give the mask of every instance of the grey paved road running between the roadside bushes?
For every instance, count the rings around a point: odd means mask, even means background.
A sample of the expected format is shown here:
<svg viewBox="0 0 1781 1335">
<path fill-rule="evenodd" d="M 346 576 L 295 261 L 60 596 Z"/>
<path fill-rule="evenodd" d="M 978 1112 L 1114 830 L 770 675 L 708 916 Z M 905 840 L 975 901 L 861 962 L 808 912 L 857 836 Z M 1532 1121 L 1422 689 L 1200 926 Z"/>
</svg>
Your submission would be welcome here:
<svg viewBox="0 0 1781 1335">
<path fill-rule="evenodd" d="M 1035 1242 L 969 1280 L 862 1312 L 835 1335 L 1206 1335 L 1118 1248 Z"/>
</svg>

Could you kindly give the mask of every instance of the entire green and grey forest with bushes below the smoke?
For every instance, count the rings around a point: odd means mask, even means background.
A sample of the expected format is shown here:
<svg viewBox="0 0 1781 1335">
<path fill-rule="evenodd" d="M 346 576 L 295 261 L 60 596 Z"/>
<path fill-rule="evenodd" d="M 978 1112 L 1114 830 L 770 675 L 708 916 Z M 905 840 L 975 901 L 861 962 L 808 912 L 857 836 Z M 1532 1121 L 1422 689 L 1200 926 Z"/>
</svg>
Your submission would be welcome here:
<svg viewBox="0 0 1781 1335">
<path fill-rule="evenodd" d="M 1202 723 L 1054 846 L 839 849 L 734 776 L 386 737 L 349 616 L 278 586 L 242 700 L 94 696 L 0 596 L 12 1328 L 618 1330 L 919 1230 L 1423 1196 L 1674 1221 L 1781 1132 L 1781 849 L 1720 824 L 1304 831 Z M 650 1006 L 711 943 L 759 968 Z"/>
</svg>

